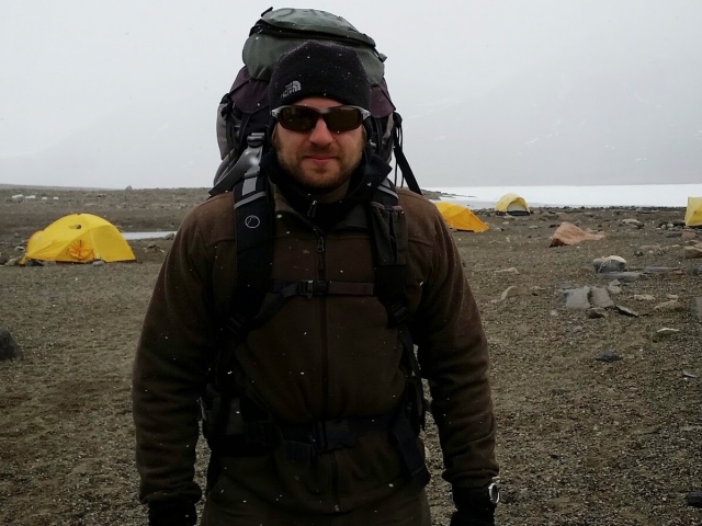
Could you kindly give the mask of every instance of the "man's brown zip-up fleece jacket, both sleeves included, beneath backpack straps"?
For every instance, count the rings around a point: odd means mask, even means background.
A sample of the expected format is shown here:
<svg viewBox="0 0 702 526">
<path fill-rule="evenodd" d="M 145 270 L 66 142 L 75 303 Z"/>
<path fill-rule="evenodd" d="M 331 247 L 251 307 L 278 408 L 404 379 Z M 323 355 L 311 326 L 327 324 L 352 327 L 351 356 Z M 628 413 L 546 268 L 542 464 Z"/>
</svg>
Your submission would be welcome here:
<svg viewBox="0 0 702 526">
<path fill-rule="evenodd" d="M 458 251 L 435 206 L 399 190 L 409 233 L 407 295 L 443 477 L 460 488 L 497 476 L 488 352 Z M 272 277 L 373 283 L 369 233 L 339 225 L 324 250 L 306 218 L 275 191 Z M 264 262 L 263 262 L 264 263 Z M 196 502 L 197 399 L 235 293 L 233 195 L 219 195 L 183 221 L 148 307 L 134 365 L 136 460 L 140 500 Z M 397 331 L 372 296 L 295 296 L 235 351 L 244 389 L 284 422 L 372 416 L 394 408 L 405 389 Z M 387 433 L 320 455 L 310 466 L 268 457 L 223 459 L 229 477 L 272 505 L 329 512 L 383 499 L 405 479 Z"/>
</svg>

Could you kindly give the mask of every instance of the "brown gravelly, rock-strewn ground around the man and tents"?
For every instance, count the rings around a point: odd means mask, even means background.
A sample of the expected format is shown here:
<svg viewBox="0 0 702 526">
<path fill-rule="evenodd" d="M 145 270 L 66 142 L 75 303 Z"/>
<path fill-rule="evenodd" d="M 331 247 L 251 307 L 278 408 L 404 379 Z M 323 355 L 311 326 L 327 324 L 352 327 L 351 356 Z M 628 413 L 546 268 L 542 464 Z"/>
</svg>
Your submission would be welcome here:
<svg viewBox="0 0 702 526">
<path fill-rule="evenodd" d="M 0 261 L 69 213 L 124 231 L 174 230 L 205 195 L 0 188 Z M 478 215 L 490 230 L 455 239 L 492 356 L 498 524 L 701 524 L 702 511 L 684 498 L 702 490 L 702 322 L 689 310 L 702 297 L 702 259 L 686 259 L 683 247 L 702 231 L 676 222 L 682 209 Z M 605 237 L 550 248 L 564 221 Z M 129 377 L 169 248 L 152 243 L 131 242 L 135 264 L 0 266 L 0 328 L 24 355 L 0 363 L 0 524 L 145 524 Z M 603 279 L 592 262 L 610 255 L 646 272 Z M 593 288 L 614 306 L 566 307 L 578 295 L 591 304 Z M 451 504 L 431 426 L 427 442 L 434 522 L 445 525 Z"/>
</svg>

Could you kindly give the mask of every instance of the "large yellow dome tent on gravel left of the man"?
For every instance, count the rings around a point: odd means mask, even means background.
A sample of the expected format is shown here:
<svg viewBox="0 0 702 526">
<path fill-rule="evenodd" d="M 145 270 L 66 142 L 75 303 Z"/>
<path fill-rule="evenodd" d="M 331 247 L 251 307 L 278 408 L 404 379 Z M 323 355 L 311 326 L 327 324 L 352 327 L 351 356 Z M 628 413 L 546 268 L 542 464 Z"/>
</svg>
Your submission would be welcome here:
<svg viewBox="0 0 702 526">
<path fill-rule="evenodd" d="M 110 221 L 92 214 L 71 214 L 32 235 L 22 263 L 26 260 L 112 263 L 136 258 Z"/>
</svg>

